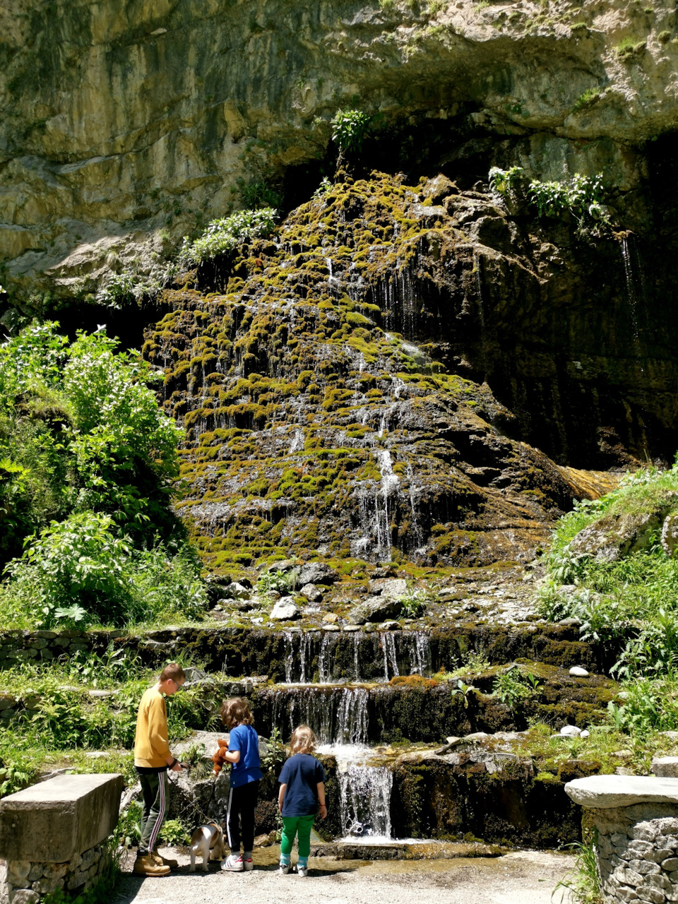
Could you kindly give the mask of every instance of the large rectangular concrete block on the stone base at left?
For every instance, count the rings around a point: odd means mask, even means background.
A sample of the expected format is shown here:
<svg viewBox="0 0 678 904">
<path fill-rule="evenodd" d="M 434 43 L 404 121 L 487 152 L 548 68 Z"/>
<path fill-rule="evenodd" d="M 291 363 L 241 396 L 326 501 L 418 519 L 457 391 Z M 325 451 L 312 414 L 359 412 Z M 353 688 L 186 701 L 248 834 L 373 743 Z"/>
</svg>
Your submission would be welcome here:
<svg viewBox="0 0 678 904">
<path fill-rule="evenodd" d="M 118 824 L 120 775 L 58 776 L 0 801 L 0 857 L 65 862 Z"/>
</svg>

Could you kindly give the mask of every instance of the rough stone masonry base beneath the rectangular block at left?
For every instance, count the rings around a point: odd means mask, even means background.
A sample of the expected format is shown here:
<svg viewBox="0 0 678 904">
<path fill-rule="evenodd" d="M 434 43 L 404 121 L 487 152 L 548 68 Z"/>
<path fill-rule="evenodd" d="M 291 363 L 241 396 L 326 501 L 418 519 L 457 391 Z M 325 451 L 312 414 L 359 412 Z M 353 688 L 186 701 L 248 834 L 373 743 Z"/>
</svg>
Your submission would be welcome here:
<svg viewBox="0 0 678 904">
<path fill-rule="evenodd" d="M 109 862 L 106 843 L 97 844 L 63 863 L 8 861 L 9 904 L 38 904 L 43 895 L 56 889 L 79 893 L 96 882 Z"/>
</svg>

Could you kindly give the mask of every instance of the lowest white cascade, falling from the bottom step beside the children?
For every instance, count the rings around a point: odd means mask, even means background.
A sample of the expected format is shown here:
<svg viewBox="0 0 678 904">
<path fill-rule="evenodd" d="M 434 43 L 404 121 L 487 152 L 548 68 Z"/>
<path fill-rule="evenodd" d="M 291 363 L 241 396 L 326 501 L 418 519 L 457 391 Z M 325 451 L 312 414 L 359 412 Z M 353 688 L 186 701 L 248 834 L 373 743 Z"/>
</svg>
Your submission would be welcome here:
<svg viewBox="0 0 678 904">
<path fill-rule="evenodd" d="M 344 836 L 391 838 L 393 773 L 386 767 L 347 764 L 339 774 Z"/>
</svg>

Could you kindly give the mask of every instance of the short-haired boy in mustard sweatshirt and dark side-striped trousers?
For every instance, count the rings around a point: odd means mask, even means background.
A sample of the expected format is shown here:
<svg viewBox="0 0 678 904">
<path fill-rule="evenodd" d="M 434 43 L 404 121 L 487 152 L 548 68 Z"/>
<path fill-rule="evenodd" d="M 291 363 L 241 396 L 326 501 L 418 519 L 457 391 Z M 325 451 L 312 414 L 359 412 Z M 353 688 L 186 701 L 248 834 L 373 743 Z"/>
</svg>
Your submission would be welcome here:
<svg viewBox="0 0 678 904">
<path fill-rule="evenodd" d="M 181 772 L 182 766 L 169 751 L 165 697 L 171 697 L 184 684 L 181 665 L 170 663 L 160 673 L 157 683 L 149 687 L 139 702 L 137 735 L 134 742 L 134 765 L 144 794 L 141 817 L 141 840 L 134 871 L 138 876 L 166 876 L 175 860 L 165 860 L 155 851 L 160 829 L 169 805 L 167 769 Z"/>
</svg>

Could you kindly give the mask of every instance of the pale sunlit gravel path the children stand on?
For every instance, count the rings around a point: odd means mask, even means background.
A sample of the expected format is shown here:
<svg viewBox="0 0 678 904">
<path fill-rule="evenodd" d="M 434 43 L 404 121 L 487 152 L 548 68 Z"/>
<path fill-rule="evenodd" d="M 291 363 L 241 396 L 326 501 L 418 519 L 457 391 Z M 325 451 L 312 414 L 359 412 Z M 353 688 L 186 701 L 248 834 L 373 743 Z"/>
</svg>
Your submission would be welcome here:
<svg viewBox="0 0 678 904">
<path fill-rule="evenodd" d="M 495 859 L 329 861 L 311 859 L 308 879 L 278 875 L 276 849 L 255 852 L 249 873 L 203 874 L 180 868 L 163 879 L 126 875 L 110 904 L 294 904 L 298 882 L 320 904 L 560 904 L 551 893 L 574 858 L 515 852 Z M 181 863 L 188 858 L 173 853 Z M 266 862 L 263 862 L 266 861 Z M 562 904 L 570 901 L 562 896 Z"/>
</svg>

